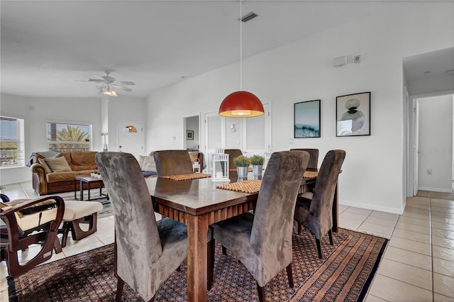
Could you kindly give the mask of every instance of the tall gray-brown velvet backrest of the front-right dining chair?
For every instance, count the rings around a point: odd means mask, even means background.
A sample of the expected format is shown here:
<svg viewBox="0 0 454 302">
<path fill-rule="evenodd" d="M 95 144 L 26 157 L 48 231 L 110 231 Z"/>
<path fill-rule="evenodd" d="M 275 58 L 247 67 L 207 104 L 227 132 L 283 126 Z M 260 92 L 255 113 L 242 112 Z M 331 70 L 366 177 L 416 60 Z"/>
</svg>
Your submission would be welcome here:
<svg viewBox="0 0 454 302">
<path fill-rule="evenodd" d="M 263 262 L 275 262 L 277 272 L 292 263 L 294 209 L 308 161 L 307 152 L 274 152 L 262 177 L 250 243 Z"/>
</svg>

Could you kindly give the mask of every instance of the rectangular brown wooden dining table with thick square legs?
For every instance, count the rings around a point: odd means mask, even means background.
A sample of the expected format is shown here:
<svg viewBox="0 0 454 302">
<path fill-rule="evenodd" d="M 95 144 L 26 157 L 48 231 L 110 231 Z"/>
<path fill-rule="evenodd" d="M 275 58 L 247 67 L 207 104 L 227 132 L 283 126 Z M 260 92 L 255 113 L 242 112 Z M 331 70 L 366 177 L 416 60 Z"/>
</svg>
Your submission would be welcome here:
<svg viewBox="0 0 454 302">
<path fill-rule="evenodd" d="M 236 172 L 230 173 L 230 179 L 237 181 Z M 248 179 L 253 179 L 252 173 L 248 174 Z M 187 301 L 204 302 L 207 299 L 209 225 L 252 210 L 258 193 L 216 189 L 218 183 L 211 178 L 184 181 L 147 178 L 145 181 L 155 211 L 187 225 Z M 306 181 L 310 184 L 315 179 Z"/>
</svg>

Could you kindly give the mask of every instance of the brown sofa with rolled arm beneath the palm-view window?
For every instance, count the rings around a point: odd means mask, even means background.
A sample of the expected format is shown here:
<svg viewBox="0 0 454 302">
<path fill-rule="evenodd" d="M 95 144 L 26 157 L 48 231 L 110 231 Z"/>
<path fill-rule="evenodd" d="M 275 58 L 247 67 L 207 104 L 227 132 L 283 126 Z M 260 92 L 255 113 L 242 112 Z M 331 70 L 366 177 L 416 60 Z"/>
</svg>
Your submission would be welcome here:
<svg viewBox="0 0 454 302">
<path fill-rule="evenodd" d="M 33 189 L 40 195 L 48 195 L 66 191 L 74 191 L 74 178 L 79 175 L 89 175 L 98 172 L 94 156 L 96 151 L 86 152 L 35 152 L 31 164 Z M 52 172 L 45 166 L 45 158 L 65 157 L 71 171 Z M 87 184 L 84 184 L 84 187 Z M 99 184 L 94 184 L 99 186 Z M 79 181 L 76 188 L 79 189 Z"/>
</svg>

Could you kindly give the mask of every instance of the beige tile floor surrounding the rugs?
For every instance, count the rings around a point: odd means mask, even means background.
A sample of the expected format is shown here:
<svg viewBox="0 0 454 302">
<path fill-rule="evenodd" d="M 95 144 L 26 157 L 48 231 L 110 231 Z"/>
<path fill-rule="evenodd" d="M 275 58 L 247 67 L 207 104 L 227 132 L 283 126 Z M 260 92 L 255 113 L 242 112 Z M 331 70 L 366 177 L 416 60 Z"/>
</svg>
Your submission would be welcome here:
<svg viewBox="0 0 454 302">
<path fill-rule="evenodd" d="M 30 182 L 8 185 L 4 194 L 11 199 L 36 197 Z M 339 206 L 341 228 L 389 239 L 365 301 L 454 301 L 454 201 L 435 197 L 409 198 L 402 215 Z M 79 241 L 69 238 L 50 261 L 111 242 L 113 217 L 99 218 L 96 233 Z M 33 250 L 24 252 L 24 259 Z M 7 274 L 1 262 L 0 302 L 8 301 Z"/>
</svg>

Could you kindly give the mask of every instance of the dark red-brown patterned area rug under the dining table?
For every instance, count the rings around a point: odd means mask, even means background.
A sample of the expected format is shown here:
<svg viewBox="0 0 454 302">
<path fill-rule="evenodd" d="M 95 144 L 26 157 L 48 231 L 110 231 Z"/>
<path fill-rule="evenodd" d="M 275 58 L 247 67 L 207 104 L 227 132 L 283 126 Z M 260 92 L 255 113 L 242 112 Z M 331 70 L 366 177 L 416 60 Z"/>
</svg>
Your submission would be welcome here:
<svg viewBox="0 0 454 302">
<path fill-rule="evenodd" d="M 294 228 L 296 231 L 296 228 Z M 325 236 L 328 237 L 328 236 Z M 285 269 L 265 286 L 266 301 L 362 301 L 388 240 L 340 229 L 334 245 L 323 238 L 324 259 L 307 230 L 293 236 L 294 288 Z M 258 301 L 253 276 L 230 253 L 216 246 L 214 284 L 209 301 Z M 9 301 L 114 301 L 114 247 L 57 260 L 9 278 Z M 161 284 L 155 301 L 187 301 L 187 264 Z M 143 301 L 128 285 L 122 301 Z"/>
</svg>

